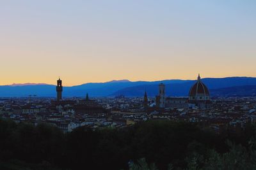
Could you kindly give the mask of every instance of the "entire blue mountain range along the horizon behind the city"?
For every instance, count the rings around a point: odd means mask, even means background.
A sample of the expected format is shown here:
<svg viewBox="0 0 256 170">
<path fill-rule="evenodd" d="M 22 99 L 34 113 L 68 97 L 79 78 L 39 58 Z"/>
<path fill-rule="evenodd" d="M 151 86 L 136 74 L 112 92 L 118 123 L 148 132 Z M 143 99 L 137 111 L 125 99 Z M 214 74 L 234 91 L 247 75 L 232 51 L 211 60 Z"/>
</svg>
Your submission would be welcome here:
<svg viewBox="0 0 256 170">
<path fill-rule="evenodd" d="M 211 96 L 256 96 L 256 78 L 228 77 L 203 78 Z M 189 89 L 196 80 L 162 80 L 162 81 L 129 81 L 113 80 L 105 83 L 85 83 L 72 87 L 63 87 L 64 97 L 114 97 L 124 95 L 127 97 L 156 96 L 159 83 L 166 85 L 166 96 L 188 96 Z M 65 84 L 65 81 L 63 81 Z M 44 83 L 26 83 L 0 86 L 0 97 L 55 97 L 55 85 Z"/>
</svg>

